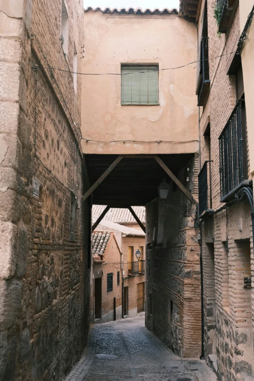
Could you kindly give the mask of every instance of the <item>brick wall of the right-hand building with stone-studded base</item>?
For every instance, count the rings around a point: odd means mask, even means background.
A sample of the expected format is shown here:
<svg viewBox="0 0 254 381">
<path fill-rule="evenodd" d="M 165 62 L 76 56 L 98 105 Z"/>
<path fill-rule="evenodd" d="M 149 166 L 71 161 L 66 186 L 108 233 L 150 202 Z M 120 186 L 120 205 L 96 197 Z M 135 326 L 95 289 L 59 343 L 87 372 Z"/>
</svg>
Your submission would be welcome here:
<svg viewBox="0 0 254 381">
<path fill-rule="evenodd" d="M 199 19 L 201 24 L 202 8 Z M 208 160 L 208 147 L 202 131 L 210 116 L 212 208 L 220 202 L 218 137 L 236 105 L 235 77 L 227 67 L 239 38 L 239 8 L 226 34 L 218 34 L 214 18 L 214 1 L 208 0 L 210 93 L 200 108 L 201 166 Z M 248 144 L 248 142 L 247 142 Z M 250 178 L 250 174 L 248 175 Z M 239 218 L 243 221 L 238 229 Z M 213 221 L 211 222 L 211 219 Z M 212 227 L 211 227 L 212 223 Z M 206 231 L 211 230 L 210 238 Z M 218 356 L 220 380 L 247 380 L 253 375 L 252 290 L 243 289 L 243 272 L 253 265 L 250 206 L 246 200 L 205 219 L 201 227 L 204 286 L 204 350 Z"/>
</svg>

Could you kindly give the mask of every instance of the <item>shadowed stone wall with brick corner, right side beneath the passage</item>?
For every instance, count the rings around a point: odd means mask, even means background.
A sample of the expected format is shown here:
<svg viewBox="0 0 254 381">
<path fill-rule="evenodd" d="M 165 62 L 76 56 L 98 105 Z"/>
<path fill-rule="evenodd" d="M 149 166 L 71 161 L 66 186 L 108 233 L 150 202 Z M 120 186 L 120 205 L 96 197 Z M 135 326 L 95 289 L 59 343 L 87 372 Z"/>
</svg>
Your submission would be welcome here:
<svg viewBox="0 0 254 381">
<path fill-rule="evenodd" d="M 199 156 L 194 155 L 178 174 L 178 179 L 196 198 L 198 171 Z M 164 207 L 159 205 L 158 199 L 146 205 L 145 324 L 176 354 L 198 357 L 201 353 L 201 290 L 195 206 L 172 182 L 170 187 Z M 158 244 L 160 229 L 163 229 L 163 243 Z"/>
</svg>

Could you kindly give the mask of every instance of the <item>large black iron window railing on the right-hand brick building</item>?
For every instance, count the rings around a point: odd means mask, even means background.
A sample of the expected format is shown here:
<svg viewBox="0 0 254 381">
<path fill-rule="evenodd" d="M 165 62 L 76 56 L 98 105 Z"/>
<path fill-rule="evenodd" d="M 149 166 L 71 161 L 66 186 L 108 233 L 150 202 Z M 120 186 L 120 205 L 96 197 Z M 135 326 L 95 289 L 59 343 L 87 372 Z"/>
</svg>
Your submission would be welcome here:
<svg viewBox="0 0 254 381">
<path fill-rule="evenodd" d="M 247 179 L 245 101 L 240 99 L 219 136 L 220 196 L 226 196 Z"/>
</svg>

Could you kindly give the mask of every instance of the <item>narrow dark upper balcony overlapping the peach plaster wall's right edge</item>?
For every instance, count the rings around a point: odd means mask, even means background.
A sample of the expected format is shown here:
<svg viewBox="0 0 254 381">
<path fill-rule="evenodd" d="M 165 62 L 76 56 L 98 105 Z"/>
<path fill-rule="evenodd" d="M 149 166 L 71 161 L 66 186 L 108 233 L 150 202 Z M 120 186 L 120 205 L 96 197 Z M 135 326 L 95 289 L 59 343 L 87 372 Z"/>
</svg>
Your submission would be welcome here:
<svg viewBox="0 0 254 381">
<path fill-rule="evenodd" d="M 200 44 L 200 78 L 198 83 L 198 106 L 204 106 L 210 91 L 208 37 L 202 37 Z"/>
</svg>

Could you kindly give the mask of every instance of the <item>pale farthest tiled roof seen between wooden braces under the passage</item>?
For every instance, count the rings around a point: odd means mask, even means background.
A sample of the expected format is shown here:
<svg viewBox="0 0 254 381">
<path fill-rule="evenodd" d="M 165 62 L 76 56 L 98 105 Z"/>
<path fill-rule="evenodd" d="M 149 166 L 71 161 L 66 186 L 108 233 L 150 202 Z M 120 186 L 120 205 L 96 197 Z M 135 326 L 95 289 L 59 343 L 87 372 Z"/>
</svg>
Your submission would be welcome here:
<svg viewBox="0 0 254 381">
<path fill-rule="evenodd" d="M 92 217 L 98 218 L 101 213 L 106 208 L 105 205 L 92 205 Z M 132 209 L 141 220 L 142 223 L 145 223 L 145 207 L 144 206 L 132 206 Z M 103 218 L 107 221 L 115 223 L 137 223 L 135 218 L 132 216 L 128 209 L 121 208 L 111 208 L 106 216 Z"/>
</svg>

